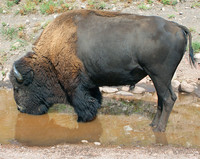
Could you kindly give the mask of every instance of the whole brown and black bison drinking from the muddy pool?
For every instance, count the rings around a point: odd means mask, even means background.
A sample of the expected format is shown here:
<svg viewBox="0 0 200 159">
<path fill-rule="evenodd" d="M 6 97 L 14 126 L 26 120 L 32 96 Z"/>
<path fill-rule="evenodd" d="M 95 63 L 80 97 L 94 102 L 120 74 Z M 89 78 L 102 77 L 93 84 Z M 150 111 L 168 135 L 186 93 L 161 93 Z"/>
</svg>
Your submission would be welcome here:
<svg viewBox="0 0 200 159">
<path fill-rule="evenodd" d="M 95 118 L 100 86 L 135 85 L 149 75 L 158 95 L 150 124 L 165 131 L 176 100 L 171 79 L 189 30 L 157 16 L 93 10 L 58 16 L 35 42 L 33 52 L 14 62 L 10 80 L 20 112 L 40 115 L 55 103 L 69 102 L 78 122 Z"/>
</svg>

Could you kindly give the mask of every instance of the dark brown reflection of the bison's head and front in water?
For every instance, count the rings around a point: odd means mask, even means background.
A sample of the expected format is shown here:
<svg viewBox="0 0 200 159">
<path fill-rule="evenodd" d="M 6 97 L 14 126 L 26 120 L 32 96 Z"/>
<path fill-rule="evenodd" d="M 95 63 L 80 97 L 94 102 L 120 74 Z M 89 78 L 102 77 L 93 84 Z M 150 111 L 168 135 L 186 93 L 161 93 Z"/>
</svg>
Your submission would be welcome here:
<svg viewBox="0 0 200 159">
<path fill-rule="evenodd" d="M 91 123 L 77 123 L 72 115 L 31 116 L 18 114 L 15 139 L 27 145 L 54 145 L 99 141 L 102 126 L 98 118 Z"/>
</svg>

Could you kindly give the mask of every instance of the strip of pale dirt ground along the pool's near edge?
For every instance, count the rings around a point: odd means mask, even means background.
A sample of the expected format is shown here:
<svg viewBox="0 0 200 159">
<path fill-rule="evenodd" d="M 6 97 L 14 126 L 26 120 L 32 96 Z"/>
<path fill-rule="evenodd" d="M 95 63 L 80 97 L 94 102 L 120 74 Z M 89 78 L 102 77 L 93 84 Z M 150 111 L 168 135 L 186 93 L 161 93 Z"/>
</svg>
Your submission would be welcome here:
<svg viewBox="0 0 200 159">
<path fill-rule="evenodd" d="M 53 147 L 0 146 L 0 159 L 199 159 L 196 149 L 170 146 L 102 147 L 89 145 L 56 145 Z"/>
</svg>

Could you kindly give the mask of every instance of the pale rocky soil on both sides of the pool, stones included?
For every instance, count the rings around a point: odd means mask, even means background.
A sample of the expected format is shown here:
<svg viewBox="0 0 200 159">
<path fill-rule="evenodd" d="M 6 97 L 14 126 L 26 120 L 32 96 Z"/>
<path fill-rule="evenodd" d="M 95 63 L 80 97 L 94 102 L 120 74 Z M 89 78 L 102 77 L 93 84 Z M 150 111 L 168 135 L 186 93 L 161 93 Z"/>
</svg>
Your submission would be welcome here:
<svg viewBox="0 0 200 159">
<path fill-rule="evenodd" d="M 156 15 L 165 19 L 176 21 L 187 26 L 193 36 L 193 41 L 200 41 L 200 8 L 198 0 L 188 0 L 179 2 L 175 6 L 163 5 L 158 1 L 152 4 L 145 4 L 149 9 L 138 7 L 143 1 L 131 3 L 113 1 L 106 2 L 104 10 L 120 11 L 141 15 Z M 52 21 L 59 13 L 50 15 L 35 12 L 34 14 L 16 14 L 20 7 L 25 4 L 22 0 L 20 4 L 11 8 L 6 7 L 6 0 L 0 1 L 0 87 L 11 87 L 9 83 L 9 71 L 13 61 L 23 56 L 27 51 L 31 51 L 32 43 L 40 35 L 45 26 Z M 75 1 L 74 9 L 87 9 L 87 1 Z M 2 9 L 2 12 L 1 12 Z M 16 37 L 8 38 L 2 33 L 3 28 L 18 28 Z M 21 28 L 21 29 L 19 29 Z M 166 42 L 167 43 L 167 42 Z M 176 91 L 196 93 L 199 91 L 200 69 L 190 66 L 188 52 L 183 57 L 173 79 L 173 87 Z M 114 93 L 122 96 L 133 96 L 154 91 L 149 77 L 142 80 L 133 91 L 129 91 L 128 86 L 101 88 L 104 93 Z M 94 145 L 58 145 L 55 147 L 23 147 L 16 145 L 1 145 L 0 158 L 200 158 L 199 149 L 175 148 L 170 146 L 155 147 L 98 147 Z"/>
</svg>

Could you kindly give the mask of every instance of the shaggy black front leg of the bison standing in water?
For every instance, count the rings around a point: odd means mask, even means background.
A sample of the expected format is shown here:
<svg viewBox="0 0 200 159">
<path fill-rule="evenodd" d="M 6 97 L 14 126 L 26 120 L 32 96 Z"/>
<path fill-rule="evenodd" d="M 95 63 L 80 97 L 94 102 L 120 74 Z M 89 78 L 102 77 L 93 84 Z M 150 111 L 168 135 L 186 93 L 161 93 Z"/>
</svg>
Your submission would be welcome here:
<svg viewBox="0 0 200 159">
<path fill-rule="evenodd" d="M 78 115 L 78 122 L 91 121 L 96 117 L 97 110 L 100 108 L 101 95 L 95 89 L 88 89 L 83 85 L 79 85 L 72 97 L 72 105 Z M 98 98 L 95 98 L 96 93 Z"/>
</svg>

